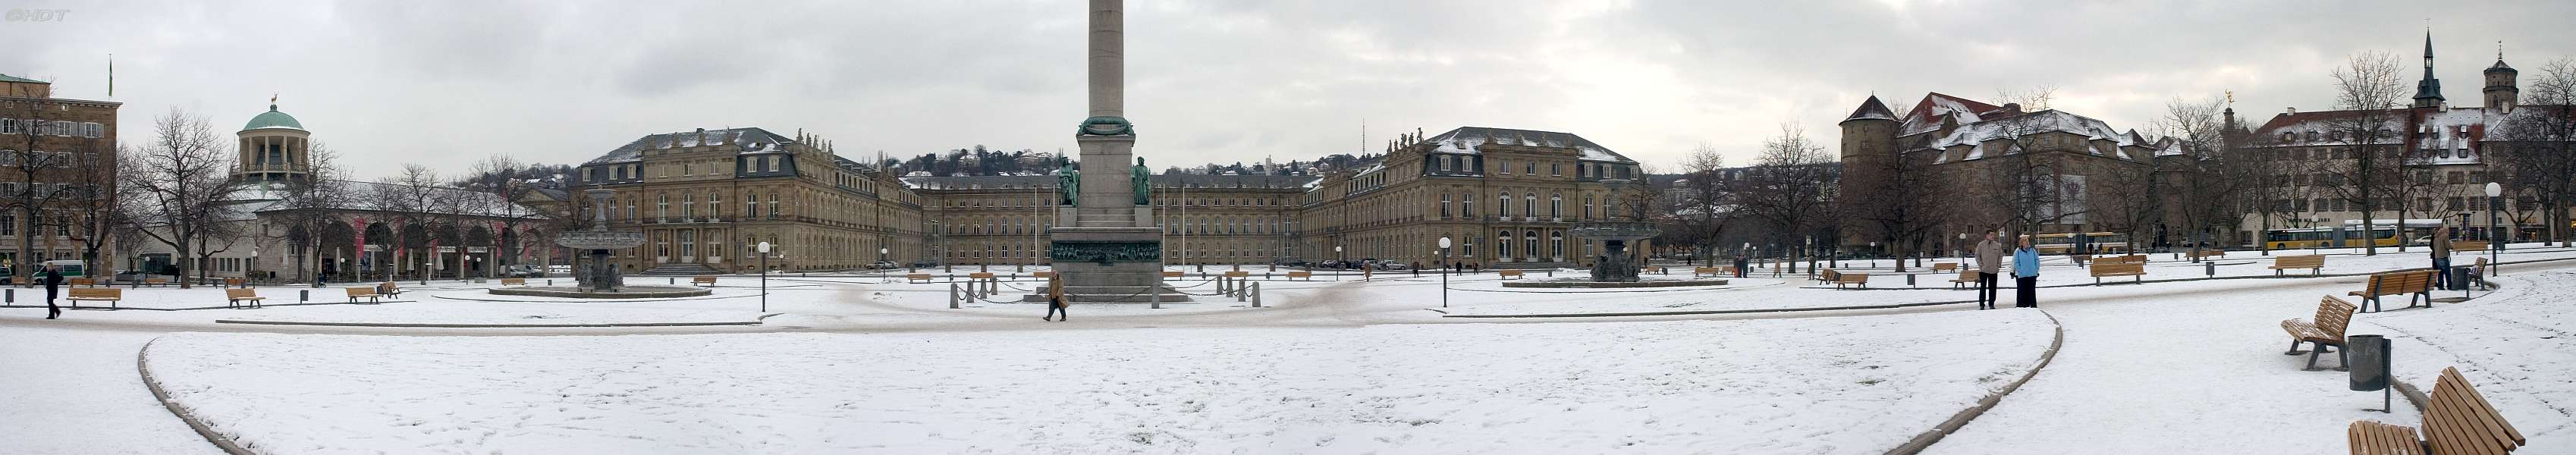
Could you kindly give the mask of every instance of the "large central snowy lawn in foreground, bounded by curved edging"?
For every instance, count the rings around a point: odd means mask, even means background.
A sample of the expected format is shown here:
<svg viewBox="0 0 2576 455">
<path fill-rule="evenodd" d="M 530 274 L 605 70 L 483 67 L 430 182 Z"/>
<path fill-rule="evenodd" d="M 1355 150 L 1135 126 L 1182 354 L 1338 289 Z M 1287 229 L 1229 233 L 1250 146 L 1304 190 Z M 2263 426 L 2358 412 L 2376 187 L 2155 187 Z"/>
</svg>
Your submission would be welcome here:
<svg viewBox="0 0 2576 455">
<path fill-rule="evenodd" d="M 1883 452 L 2038 311 L 948 334 L 170 334 L 263 452 Z"/>
</svg>

